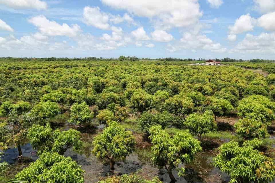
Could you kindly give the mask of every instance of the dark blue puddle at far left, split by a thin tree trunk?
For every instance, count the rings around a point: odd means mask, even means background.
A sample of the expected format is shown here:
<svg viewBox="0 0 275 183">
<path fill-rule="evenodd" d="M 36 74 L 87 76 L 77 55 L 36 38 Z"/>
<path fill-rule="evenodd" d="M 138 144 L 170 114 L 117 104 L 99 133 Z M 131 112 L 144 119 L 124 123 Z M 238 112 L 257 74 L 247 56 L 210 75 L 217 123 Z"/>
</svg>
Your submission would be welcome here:
<svg viewBox="0 0 275 183">
<path fill-rule="evenodd" d="M 37 160 L 36 151 L 32 148 L 31 144 L 26 144 L 25 146 L 21 146 L 23 157 L 27 157 L 32 159 L 33 161 Z M 9 164 L 15 163 L 18 157 L 18 149 L 10 148 L 4 152 L 4 156 L 2 159 Z"/>
</svg>

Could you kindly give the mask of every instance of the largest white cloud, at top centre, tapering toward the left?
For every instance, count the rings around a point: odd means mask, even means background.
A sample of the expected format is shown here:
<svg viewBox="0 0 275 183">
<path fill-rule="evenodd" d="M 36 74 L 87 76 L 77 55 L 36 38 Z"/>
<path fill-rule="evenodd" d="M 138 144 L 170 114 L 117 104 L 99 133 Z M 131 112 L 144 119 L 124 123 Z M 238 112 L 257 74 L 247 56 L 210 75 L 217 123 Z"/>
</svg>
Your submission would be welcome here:
<svg viewBox="0 0 275 183">
<path fill-rule="evenodd" d="M 127 10 L 140 17 L 161 21 L 170 27 L 187 27 L 203 15 L 197 0 L 101 0 L 116 9 Z M 190 11 L 192 10 L 192 11 Z"/>
</svg>

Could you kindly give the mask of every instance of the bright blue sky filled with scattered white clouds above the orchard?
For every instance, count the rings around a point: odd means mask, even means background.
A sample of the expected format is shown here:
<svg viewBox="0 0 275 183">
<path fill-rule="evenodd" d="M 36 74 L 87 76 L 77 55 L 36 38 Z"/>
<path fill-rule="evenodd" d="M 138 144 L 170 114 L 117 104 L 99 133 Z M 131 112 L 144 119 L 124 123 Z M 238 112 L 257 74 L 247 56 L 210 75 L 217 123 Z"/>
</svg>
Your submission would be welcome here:
<svg viewBox="0 0 275 183">
<path fill-rule="evenodd" d="M 275 0 L 0 0 L 0 57 L 275 59 Z"/>
</svg>

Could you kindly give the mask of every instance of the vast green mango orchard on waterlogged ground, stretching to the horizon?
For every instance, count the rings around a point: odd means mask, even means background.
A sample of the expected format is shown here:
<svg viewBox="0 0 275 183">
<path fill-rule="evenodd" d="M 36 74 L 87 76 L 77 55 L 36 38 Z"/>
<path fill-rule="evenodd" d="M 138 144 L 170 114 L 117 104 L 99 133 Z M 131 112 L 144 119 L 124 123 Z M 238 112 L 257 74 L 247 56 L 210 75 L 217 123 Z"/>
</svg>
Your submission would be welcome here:
<svg viewBox="0 0 275 183">
<path fill-rule="evenodd" d="M 0 182 L 274 182 L 274 63 L 188 64 L 0 61 Z"/>
</svg>

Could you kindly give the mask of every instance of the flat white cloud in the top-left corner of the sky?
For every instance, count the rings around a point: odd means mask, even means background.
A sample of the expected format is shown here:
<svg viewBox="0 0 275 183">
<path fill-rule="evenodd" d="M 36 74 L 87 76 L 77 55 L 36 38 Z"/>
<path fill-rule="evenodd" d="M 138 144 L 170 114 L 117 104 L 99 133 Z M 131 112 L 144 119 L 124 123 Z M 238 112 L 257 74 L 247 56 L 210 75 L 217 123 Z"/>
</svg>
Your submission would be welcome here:
<svg viewBox="0 0 275 183">
<path fill-rule="evenodd" d="M 47 3 L 40 0 L 0 0 L 0 4 L 14 9 L 47 9 Z"/>
</svg>

